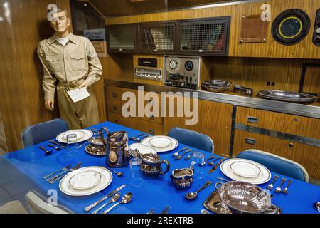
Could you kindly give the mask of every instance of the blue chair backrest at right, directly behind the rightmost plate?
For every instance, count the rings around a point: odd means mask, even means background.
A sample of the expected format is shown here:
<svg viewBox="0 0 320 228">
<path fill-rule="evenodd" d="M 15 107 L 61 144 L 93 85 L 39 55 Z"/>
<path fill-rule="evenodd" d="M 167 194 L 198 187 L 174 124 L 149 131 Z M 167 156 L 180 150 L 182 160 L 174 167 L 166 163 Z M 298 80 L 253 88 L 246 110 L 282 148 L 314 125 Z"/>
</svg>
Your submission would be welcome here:
<svg viewBox="0 0 320 228">
<path fill-rule="evenodd" d="M 287 158 L 272 155 L 261 150 L 246 150 L 245 152 L 240 152 L 237 157 L 253 160 L 265 165 L 271 172 L 277 172 L 280 175 L 309 182 L 309 175 L 306 169 L 299 163 Z"/>
</svg>

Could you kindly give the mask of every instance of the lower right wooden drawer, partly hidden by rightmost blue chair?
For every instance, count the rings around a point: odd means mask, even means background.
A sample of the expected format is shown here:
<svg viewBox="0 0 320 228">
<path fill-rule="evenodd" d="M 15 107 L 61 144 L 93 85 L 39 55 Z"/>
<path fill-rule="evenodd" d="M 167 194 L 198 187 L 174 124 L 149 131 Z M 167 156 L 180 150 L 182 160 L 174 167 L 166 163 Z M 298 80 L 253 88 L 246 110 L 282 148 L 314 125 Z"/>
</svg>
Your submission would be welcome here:
<svg viewBox="0 0 320 228">
<path fill-rule="evenodd" d="M 250 149 L 262 150 L 298 162 L 306 168 L 311 178 L 320 180 L 320 147 L 235 130 L 233 155 L 237 156 L 239 152 Z"/>
</svg>

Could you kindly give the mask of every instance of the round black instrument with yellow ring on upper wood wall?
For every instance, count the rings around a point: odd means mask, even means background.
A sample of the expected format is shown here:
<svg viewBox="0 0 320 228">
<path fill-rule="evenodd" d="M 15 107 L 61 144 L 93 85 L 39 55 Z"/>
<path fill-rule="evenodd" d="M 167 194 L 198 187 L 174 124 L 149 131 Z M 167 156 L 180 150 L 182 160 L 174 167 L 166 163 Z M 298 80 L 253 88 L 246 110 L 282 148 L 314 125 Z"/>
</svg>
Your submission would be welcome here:
<svg viewBox="0 0 320 228">
<path fill-rule="evenodd" d="M 310 18 L 301 9 L 287 9 L 274 19 L 272 36 L 284 45 L 293 45 L 302 41 L 309 33 Z"/>
</svg>

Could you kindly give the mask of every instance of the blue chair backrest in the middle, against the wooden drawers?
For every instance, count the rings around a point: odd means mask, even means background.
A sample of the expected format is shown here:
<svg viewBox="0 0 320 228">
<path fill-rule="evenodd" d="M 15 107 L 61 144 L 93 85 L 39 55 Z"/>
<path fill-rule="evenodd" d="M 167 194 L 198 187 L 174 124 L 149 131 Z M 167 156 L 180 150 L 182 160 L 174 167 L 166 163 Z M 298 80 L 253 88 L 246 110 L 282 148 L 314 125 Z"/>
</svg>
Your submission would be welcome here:
<svg viewBox="0 0 320 228">
<path fill-rule="evenodd" d="M 205 150 L 212 153 L 215 150 L 213 140 L 208 135 L 198 133 L 193 130 L 171 128 L 168 135 L 184 145 L 188 145 L 199 150 Z"/>
</svg>

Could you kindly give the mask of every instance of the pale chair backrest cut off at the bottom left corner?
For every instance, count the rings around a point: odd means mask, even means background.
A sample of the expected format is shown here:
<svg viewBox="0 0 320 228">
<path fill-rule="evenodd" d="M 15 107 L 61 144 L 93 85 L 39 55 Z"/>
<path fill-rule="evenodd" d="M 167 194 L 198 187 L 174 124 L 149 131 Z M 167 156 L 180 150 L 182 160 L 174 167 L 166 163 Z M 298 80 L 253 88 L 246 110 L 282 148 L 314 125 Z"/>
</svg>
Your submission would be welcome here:
<svg viewBox="0 0 320 228">
<path fill-rule="evenodd" d="M 70 209 L 60 204 L 57 206 L 48 204 L 47 198 L 34 190 L 28 192 L 24 198 L 33 214 L 73 214 Z"/>
</svg>

